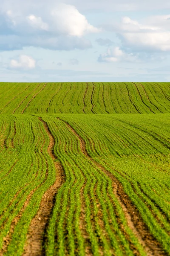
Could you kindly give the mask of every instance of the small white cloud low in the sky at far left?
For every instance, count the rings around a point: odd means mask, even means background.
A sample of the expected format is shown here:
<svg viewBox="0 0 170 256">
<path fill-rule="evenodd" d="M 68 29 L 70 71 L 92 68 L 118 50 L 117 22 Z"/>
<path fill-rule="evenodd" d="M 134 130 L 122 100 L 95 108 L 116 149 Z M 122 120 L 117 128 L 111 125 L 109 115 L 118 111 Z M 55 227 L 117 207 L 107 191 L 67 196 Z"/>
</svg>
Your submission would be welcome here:
<svg viewBox="0 0 170 256">
<path fill-rule="evenodd" d="M 34 69 L 36 61 L 28 55 L 20 55 L 17 60 L 10 61 L 10 67 L 14 69 Z"/>
</svg>

